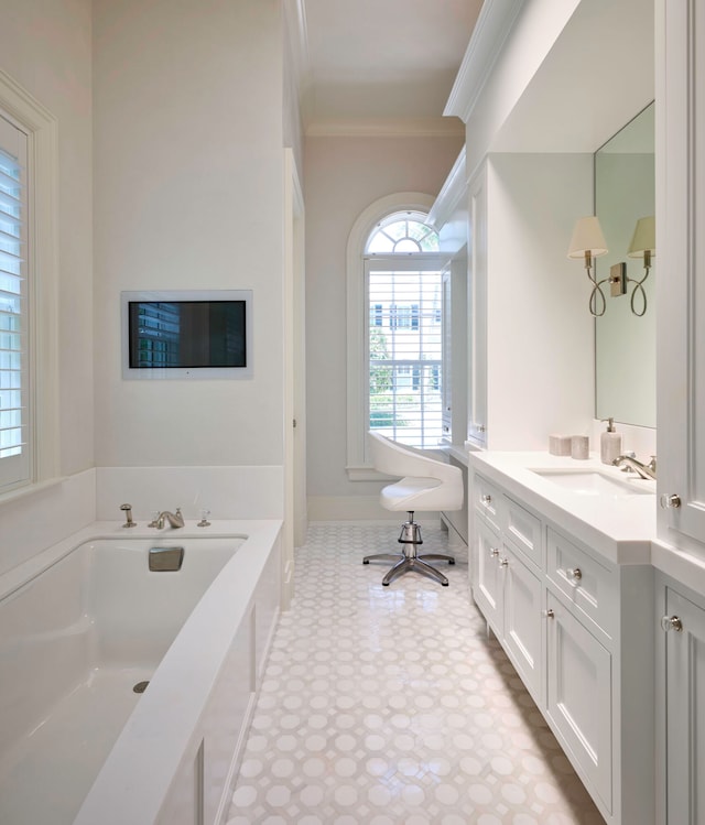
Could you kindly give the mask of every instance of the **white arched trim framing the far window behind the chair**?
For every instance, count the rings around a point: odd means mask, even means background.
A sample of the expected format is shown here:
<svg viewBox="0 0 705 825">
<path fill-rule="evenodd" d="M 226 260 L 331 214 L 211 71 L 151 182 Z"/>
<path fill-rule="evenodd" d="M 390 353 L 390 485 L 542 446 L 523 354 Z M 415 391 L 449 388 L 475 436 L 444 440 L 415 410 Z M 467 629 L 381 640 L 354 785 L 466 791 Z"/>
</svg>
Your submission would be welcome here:
<svg viewBox="0 0 705 825">
<path fill-rule="evenodd" d="M 367 399 L 367 360 L 365 278 L 362 259 L 367 240 L 376 225 L 393 213 L 419 211 L 427 214 L 435 202 L 433 195 L 422 192 L 399 192 L 370 204 L 357 218 L 347 246 L 347 465 L 350 481 L 377 481 L 383 476 L 366 460 L 365 422 Z M 436 253 L 420 253 L 433 256 Z"/>
</svg>

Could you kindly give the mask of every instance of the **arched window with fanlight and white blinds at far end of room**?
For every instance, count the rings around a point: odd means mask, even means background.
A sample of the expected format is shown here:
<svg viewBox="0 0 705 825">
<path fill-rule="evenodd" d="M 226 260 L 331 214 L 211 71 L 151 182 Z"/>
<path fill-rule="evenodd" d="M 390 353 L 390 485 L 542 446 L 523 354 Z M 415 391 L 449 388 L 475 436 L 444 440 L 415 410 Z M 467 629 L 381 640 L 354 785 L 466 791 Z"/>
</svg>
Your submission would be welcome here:
<svg viewBox="0 0 705 825">
<path fill-rule="evenodd" d="M 384 211 L 379 203 L 375 220 L 350 237 L 350 478 L 370 477 L 368 430 L 414 447 L 436 447 L 443 436 L 443 269 L 438 236 L 426 222 L 430 200 L 400 208 L 403 202 L 386 199 Z"/>
</svg>

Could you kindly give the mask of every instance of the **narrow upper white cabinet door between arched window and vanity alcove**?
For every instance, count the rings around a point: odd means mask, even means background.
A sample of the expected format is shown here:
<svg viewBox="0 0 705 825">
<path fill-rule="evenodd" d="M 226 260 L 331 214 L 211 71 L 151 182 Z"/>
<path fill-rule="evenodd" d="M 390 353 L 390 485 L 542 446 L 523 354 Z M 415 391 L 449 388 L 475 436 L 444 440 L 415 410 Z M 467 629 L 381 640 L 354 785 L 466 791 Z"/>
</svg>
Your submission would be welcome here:
<svg viewBox="0 0 705 825">
<path fill-rule="evenodd" d="M 482 170 L 469 186 L 469 382 L 467 437 L 487 444 L 487 185 Z"/>
</svg>

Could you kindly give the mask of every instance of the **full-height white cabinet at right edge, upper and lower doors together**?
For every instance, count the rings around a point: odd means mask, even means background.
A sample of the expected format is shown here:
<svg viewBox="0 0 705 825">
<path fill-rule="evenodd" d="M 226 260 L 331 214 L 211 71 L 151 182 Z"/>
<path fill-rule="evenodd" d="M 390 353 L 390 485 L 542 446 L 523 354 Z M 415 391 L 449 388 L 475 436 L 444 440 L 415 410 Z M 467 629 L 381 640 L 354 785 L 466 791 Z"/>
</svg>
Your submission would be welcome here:
<svg viewBox="0 0 705 825">
<path fill-rule="evenodd" d="M 705 823 L 705 13 L 658 0 L 660 817 Z M 659 173 L 660 171 L 660 173 Z M 684 583 L 684 584 L 680 584 Z M 670 620 L 673 620 L 673 623 Z"/>
</svg>

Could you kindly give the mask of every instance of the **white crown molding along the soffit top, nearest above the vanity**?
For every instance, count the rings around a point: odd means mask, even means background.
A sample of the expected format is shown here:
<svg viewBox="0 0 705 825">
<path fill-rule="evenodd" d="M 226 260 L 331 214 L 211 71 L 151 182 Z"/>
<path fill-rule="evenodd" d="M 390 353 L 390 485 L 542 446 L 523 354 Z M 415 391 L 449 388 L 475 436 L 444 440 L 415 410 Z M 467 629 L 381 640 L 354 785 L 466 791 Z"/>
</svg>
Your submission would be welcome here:
<svg viewBox="0 0 705 825">
<path fill-rule="evenodd" d="M 455 115 L 467 123 L 525 2 L 528 0 L 485 0 L 444 115 Z"/>
</svg>

